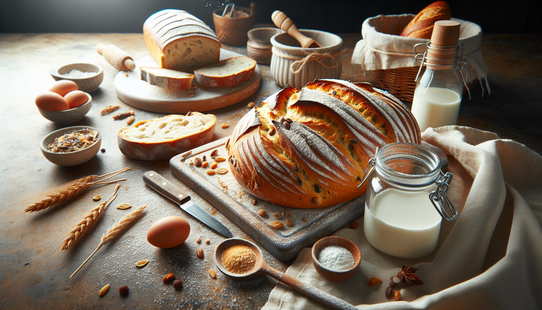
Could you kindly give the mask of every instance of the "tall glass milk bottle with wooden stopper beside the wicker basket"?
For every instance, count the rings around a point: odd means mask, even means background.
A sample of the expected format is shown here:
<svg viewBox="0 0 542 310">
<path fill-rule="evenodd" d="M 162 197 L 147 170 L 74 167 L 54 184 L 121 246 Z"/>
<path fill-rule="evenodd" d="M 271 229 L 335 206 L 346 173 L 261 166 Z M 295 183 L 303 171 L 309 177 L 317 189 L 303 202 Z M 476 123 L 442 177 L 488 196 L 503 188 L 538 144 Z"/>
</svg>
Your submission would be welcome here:
<svg viewBox="0 0 542 310">
<path fill-rule="evenodd" d="M 465 63 L 460 55 L 462 47 L 457 45 L 459 30 L 458 22 L 436 22 L 427 52 L 423 54 L 420 71 L 424 64 L 427 68 L 421 78 L 418 72 L 412 100 L 412 114 L 422 132 L 429 127 L 457 124 L 464 84 L 459 64 Z M 416 60 L 420 61 L 421 56 L 417 54 Z"/>
</svg>

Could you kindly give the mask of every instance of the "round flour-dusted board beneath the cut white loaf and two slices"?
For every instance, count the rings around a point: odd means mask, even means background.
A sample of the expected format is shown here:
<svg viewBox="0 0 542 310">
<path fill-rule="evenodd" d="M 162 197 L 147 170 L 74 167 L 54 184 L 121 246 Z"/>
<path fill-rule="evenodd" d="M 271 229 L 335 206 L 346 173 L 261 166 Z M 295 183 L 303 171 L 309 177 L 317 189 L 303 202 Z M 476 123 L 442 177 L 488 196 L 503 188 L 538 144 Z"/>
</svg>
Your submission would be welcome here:
<svg viewBox="0 0 542 310">
<path fill-rule="evenodd" d="M 220 49 L 220 60 L 235 56 L 243 56 L 229 50 Z M 260 86 L 260 68 L 256 65 L 254 75 L 250 80 L 233 87 L 204 87 L 196 79 L 192 84 L 198 86 L 194 97 L 190 97 L 190 90 L 171 90 L 150 85 L 141 80 L 139 67 L 158 67 L 151 55 L 135 60 L 135 69 L 132 71 L 119 71 L 115 77 L 115 90 L 120 100 L 140 110 L 179 114 L 190 111 L 210 111 L 220 109 L 247 99 L 255 93 Z M 128 76 L 126 76 L 126 73 Z"/>
</svg>

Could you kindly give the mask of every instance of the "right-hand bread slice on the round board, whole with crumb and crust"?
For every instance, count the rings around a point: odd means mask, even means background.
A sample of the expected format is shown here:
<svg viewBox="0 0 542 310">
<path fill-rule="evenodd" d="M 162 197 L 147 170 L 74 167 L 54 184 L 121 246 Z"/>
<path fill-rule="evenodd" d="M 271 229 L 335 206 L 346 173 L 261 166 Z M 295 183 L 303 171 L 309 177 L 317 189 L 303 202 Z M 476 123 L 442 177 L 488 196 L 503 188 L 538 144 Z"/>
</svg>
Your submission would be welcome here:
<svg viewBox="0 0 542 310">
<path fill-rule="evenodd" d="M 256 61 L 245 56 L 228 58 L 194 70 L 196 81 L 207 87 L 230 87 L 249 80 L 254 75 Z"/>
</svg>

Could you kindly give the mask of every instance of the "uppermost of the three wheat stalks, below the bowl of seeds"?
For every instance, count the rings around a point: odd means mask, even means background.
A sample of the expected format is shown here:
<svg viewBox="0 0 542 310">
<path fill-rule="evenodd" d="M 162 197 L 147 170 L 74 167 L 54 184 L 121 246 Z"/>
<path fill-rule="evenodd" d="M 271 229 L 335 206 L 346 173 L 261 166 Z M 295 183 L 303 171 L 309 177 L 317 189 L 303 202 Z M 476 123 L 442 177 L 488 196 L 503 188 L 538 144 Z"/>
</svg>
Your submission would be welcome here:
<svg viewBox="0 0 542 310">
<path fill-rule="evenodd" d="M 66 203 L 66 201 L 74 198 L 76 195 L 81 193 L 83 189 L 95 185 L 95 184 L 109 184 L 114 183 L 118 181 L 125 181 L 126 179 L 121 180 L 115 180 L 115 181 L 108 181 L 103 182 L 104 180 L 113 178 L 113 176 L 118 175 L 119 173 L 125 172 L 127 170 L 130 170 L 131 168 L 124 168 L 115 172 L 107 173 L 104 175 L 88 175 L 83 176 L 83 178 L 68 182 L 66 184 L 63 184 L 59 187 L 50 189 L 49 191 L 45 191 L 38 196 L 42 198 L 40 201 L 37 201 L 36 203 L 32 203 L 32 205 L 28 206 L 24 212 L 37 212 L 40 210 L 44 210 L 48 207 L 60 205 L 63 203 Z M 105 179 L 94 181 L 95 179 L 103 178 L 106 175 L 111 174 L 111 176 L 108 176 Z M 92 182 L 94 181 L 94 182 Z"/>
</svg>

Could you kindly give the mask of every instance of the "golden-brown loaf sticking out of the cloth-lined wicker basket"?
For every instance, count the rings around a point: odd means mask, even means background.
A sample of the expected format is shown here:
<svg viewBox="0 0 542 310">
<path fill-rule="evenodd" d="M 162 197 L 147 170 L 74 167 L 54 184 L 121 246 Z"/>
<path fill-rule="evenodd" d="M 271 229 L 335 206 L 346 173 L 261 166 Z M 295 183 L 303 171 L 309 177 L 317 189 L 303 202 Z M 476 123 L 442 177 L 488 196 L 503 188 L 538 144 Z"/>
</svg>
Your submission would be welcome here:
<svg viewBox="0 0 542 310">
<path fill-rule="evenodd" d="M 449 21 L 450 19 L 450 5 L 446 1 L 435 1 L 414 16 L 403 29 L 400 36 L 431 39 L 435 22 Z"/>
</svg>

